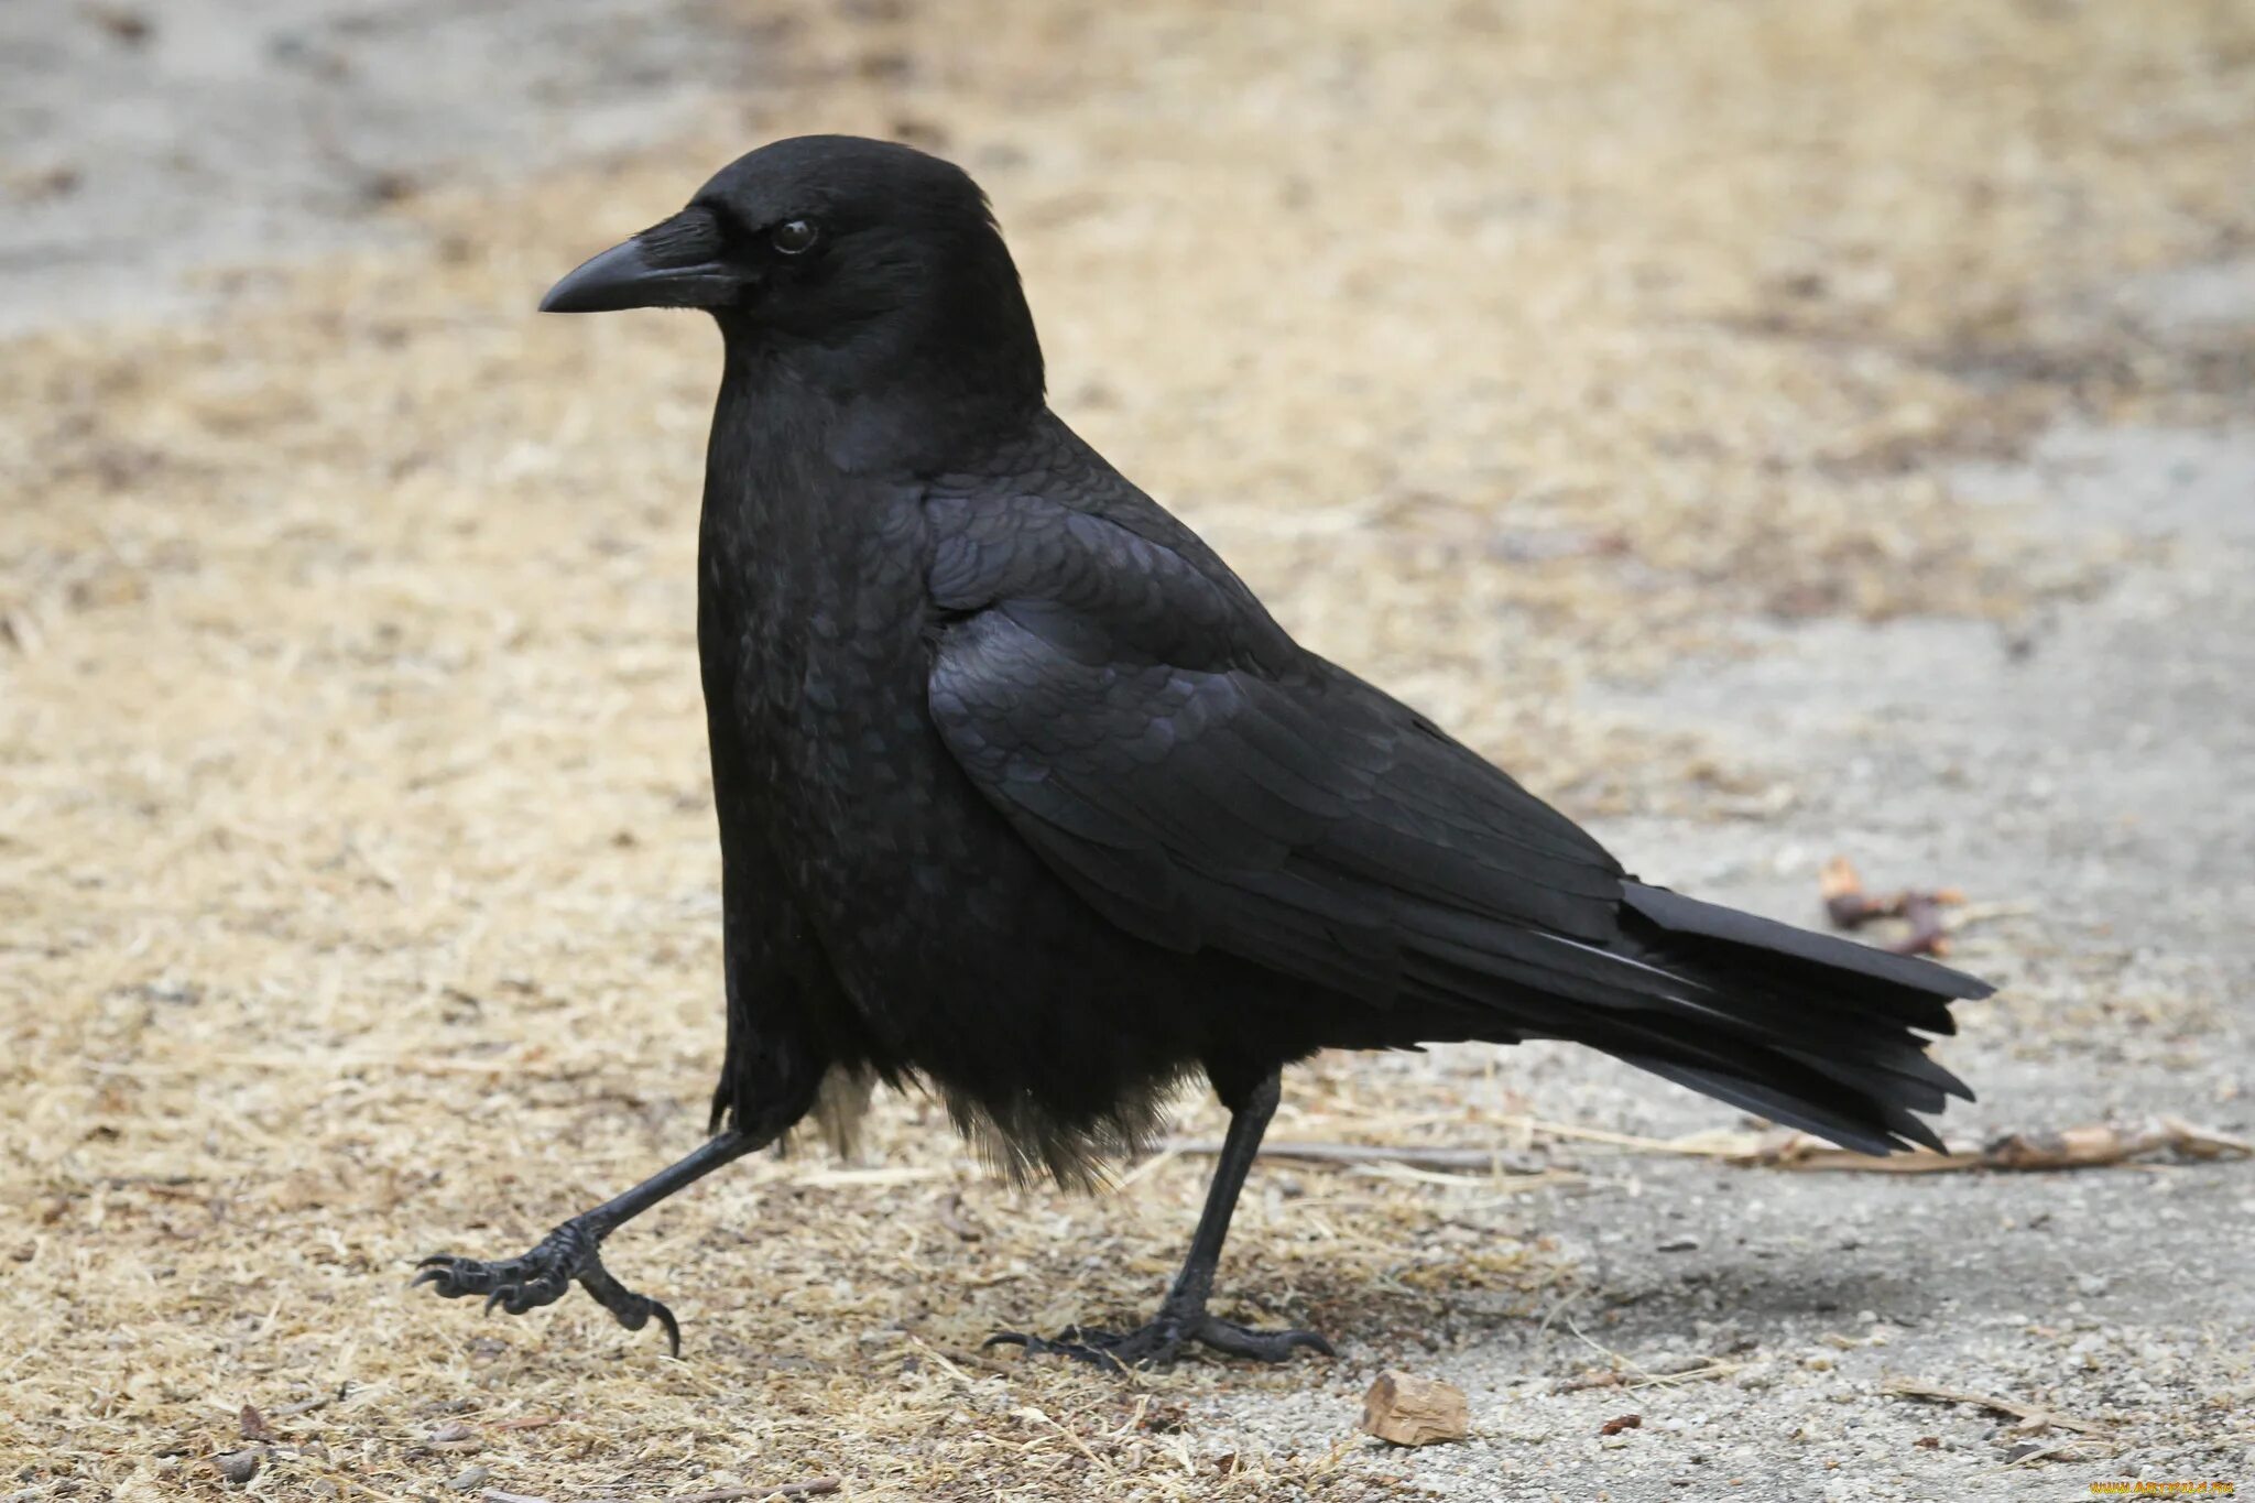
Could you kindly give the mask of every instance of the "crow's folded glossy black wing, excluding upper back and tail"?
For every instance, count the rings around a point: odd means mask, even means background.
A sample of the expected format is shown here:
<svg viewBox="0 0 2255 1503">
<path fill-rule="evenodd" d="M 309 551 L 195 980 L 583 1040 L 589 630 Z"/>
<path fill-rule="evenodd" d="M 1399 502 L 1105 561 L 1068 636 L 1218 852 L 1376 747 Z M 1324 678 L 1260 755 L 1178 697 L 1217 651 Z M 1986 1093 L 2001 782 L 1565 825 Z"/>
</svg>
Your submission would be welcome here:
<svg viewBox="0 0 2255 1503">
<path fill-rule="evenodd" d="M 997 604 L 947 626 L 929 681 L 963 771 L 1100 913 L 1373 1003 L 1403 987 L 1405 940 L 1468 935 L 1491 994 L 1497 962 L 1608 991 L 1533 933 L 1612 931 L 1603 847 L 1351 674 L 1150 662 L 1132 620 Z"/>
</svg>

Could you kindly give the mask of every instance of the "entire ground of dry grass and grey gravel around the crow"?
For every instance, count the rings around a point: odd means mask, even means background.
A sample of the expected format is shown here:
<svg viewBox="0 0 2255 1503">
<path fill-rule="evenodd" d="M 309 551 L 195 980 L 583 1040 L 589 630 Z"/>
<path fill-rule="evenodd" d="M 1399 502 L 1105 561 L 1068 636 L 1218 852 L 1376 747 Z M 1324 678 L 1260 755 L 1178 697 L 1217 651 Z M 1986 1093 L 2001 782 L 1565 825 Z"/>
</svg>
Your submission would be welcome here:
<svg viewBox="0 0 2255 1503">
<path fill-rule="evenodd" d="M 0 14 L 0 1489 L 2255 1480 L 2246 1163 L 1732 1167 L 1554 1048 L 1290 1084 L 1276 1138 L 1513 1170 L 1261 1172 L 1224 1287 L 1335 1363 L 974 1357 L 1146 1307 L 1202 1165 L 1010 1190 L 920 1100 L 616 1242 L 683 1363 L 406 1291 L 697 1140 L 713 336 L 528 309 L 803 128 L 965 160 L 1060 410 L 1646 877 L 1969 888 L 1955 1136 L 2255 1120 L 2255 16 L 794 16 Z M 1475 1435 L 1358 1438 L 1389 1366 Z"/>
</svg>

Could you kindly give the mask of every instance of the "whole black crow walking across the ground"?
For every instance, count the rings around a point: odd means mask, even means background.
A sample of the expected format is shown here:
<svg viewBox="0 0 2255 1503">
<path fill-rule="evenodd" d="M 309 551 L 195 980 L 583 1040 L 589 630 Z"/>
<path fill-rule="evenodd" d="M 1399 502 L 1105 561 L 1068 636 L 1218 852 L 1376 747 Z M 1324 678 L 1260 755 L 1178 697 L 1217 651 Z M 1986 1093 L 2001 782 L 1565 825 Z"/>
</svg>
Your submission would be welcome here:
<svg viewBox="0 0 2255 1503">
<path fill-rule="evenodd" d="M 1085 1183 L 1204 1075 L 1206 1210 L 1105 1363 L 1315 1332 L 1206 1311 L 1279 1070 L 1324 1048 L 1574 1039 L 1847 1147 L 1937 1145 L 1971 976 L 1628 877 L 1416 710 L 1299 647 L 1044 403 L 985 196 L 907 146 L 737 160 L 541 304 L 706 309 L 697 644 L 728 1043 L 713 1138 L 523 1257 L 431 1257 L 523 1314 L 577 1280 L 674 1316 L 602 1239 L 870 1082 L 922 1082 L 1017 1174 Z"/>
</svg>

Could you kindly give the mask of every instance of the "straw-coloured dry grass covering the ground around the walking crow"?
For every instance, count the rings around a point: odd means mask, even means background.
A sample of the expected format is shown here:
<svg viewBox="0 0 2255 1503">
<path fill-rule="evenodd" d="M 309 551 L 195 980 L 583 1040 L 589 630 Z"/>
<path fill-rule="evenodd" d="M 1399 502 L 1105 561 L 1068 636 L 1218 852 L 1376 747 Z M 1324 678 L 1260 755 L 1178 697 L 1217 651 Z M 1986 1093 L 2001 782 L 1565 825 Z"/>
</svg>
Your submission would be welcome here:
<svg viewBox="0 0 2255 1503">
<path fill-rule="evenodd" d="M 0 1199 L 27 1215 L 0 1233 L 0 1456 L 29 1496 L 221 1492 L 203 1458 L 244 1404 L 284 1442 L 266 1496 L 451 1496 L 469 1465 L 555 1498 L 1389 1489 L 1346 1397 L 1330 1453 L 1179 1429 L 1306 1370 L 970 1359 L 994 1325 L 1146 1305 L 1200 1165 L 1012 1192 L 913 1100 L 875 1118 L 884 1174 L 762 1163 L 622 1235 L 683 1366 L 586 1300 L 478 1323 L 404 1275 L 516 1251 L 701 1124 L 715 340 L 528 306 L 751 140 L 965 160 L 1060 408 L 1312 644 L 1583 813 L 1727 771 L 1576 717 L 1581 676 L 1748 611 L 2072 588 L 2090 561 L 1957 505 L 1935 455 L 2239 370 L 2169 365 L 2099 288 L 2255 239 L 2244 7 L 1418 16 L 810 18 L 758 32 L 782 52 L 744 117 L 663 160 L 408 203 L 428 252 L 7 352 Z M 1502 1104 L 1414 1079 L 1326 1064 L 1281 1131 L 1461 1136 Z M 1414 1181 L 1308 1181 L 1247 1206 L 1229 1287 L 1353 1341 L 1569 1275 L 1423 1237 Z"/>
</svg>

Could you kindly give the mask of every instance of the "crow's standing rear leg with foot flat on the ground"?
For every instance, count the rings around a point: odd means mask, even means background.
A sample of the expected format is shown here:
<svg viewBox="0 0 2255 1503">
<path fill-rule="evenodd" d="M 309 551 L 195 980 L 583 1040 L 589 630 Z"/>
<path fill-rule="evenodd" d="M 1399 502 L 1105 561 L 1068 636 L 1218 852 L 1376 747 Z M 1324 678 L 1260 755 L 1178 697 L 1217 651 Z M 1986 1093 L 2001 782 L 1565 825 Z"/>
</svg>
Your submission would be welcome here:
<svg viewBox="0 0 2255 1503">
<path fill-rule="evenodd" d="M 1012 1343 L 1026 1348 L 1026 1352 L 1055 1352 L 1114 1370 L 1164 1368 L 1193 1341 L 1229 1357 L 1254 1357 L 1261 1361 L 1283 1361 L 1297 1348 L 1330 1357 L 1330 1343 L 1317 1332 L 1263 1332 L 1206 1314 L 1206 1300 L 1213 1293 L 1213 1269 L 1222 1257 L 1222 1239 L 1229 1237 L 1229 1217 L 1238 1208 L 1245 1172 L 1254 1167 L 1254 1154 L 1261 1151 L 1261 1133 L 1267 1131 L 1267 1122 L 1276 1113 L 1276 1070 L 1270 1070 L 1245 1091 L 1224 1091 L 1222 1100 L 1229 1104 L 1229 1136 L 1222 1140 L 1220 1160 L 1213 1165 L 1206 1208 L 1197 1217 L 1191 1255 L 1182 1260 L 1182 1273 L 1175 1275 L 1175 1284 L 1166 1291 L 1166 1300 L 1161 1300 L 1152 1323 L 1132 1332 L 1069 1325 L 1051 1339 L 1028 1336 L 1026 1332 L 997 1332 L 985 1339 L 985 1345 Z"/>
</svg>

